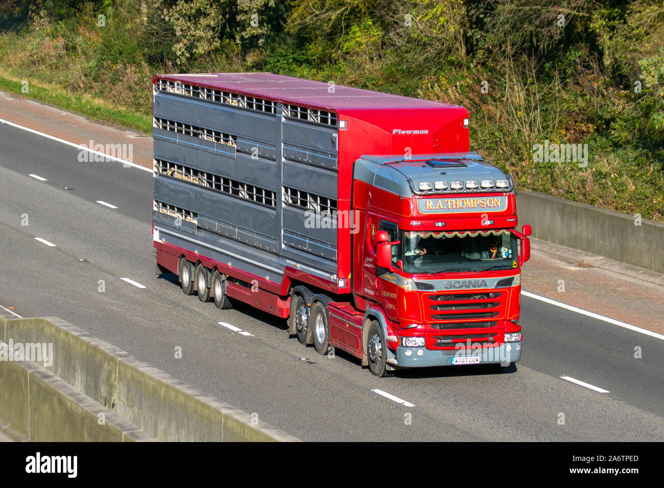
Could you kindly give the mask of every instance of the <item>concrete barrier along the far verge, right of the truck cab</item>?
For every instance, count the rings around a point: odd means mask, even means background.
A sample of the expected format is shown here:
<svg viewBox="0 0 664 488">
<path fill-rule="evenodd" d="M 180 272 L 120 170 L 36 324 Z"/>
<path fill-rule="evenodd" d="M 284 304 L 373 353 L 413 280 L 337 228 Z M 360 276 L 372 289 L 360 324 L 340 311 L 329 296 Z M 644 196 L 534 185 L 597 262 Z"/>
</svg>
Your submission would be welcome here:
<svg viewBox="0 0 664 488">
<path fill-rule="evenodd" d="M 660 222 L 534 191 L 520 191 L 517 205 L 535 238 L 664 273 Z"/>
</svg>

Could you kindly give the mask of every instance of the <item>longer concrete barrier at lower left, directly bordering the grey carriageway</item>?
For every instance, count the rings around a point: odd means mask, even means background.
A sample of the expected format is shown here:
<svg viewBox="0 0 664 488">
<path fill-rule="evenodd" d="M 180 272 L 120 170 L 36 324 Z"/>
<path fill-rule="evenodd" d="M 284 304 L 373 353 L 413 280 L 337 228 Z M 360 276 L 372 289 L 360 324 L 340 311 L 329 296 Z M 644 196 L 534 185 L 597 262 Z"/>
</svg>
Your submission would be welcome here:
<svg viewBox="0 0 664 488">
<path fill-rule="evenodd" d="M 229 404 L 203 396 L 169 374 L 137 361 L 118 347 L 57 317 L 0 321 L 1 341 L 9 343 L 11 339 L 15 344 L 52 345 L 52 357 L 44 361 L 42 369 L 62 378 L 74 390 L 106 406 L 157 440 L 298 440 Z M 17 385 L 18 390 L 15 390 L 1 378 L 0 392 L 10 401 L 0 407 L 0 422 L 9 420 L 11 428 L 25 432 L 25 422 L 21 423 L 23 410 L 19 406 L 21 386 Z M 13 396 L 16 400 L 12 400 Z M 60 424 L 60 430 L 64 425 Z"/>
</svg>

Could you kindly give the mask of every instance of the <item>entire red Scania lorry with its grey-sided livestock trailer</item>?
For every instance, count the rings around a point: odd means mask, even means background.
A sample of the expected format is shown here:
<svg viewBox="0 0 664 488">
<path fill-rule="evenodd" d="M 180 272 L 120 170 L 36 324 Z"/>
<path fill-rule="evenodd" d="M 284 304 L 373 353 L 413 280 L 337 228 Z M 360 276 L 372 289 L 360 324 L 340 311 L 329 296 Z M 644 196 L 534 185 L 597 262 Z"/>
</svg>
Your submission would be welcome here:
<svg viewBox="0 0 664 488">
<path fill-rule="evenodd" d="M 459 106 L 269 73 L 153 78 L 153 244 L 219 309 L 376 376 L 521 358 L 513 181 Z"/>
</svg>

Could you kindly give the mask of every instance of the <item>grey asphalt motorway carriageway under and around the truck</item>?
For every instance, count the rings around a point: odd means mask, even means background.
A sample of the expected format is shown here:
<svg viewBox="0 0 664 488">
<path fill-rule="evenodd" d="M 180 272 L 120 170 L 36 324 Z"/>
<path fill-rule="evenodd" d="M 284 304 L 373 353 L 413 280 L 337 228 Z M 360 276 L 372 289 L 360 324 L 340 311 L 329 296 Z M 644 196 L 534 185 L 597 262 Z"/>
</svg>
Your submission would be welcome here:
<svg viewBox="0 0 664 488">
<path fill-rule="evenodd" d="M 661 339 L 522 297 L 523 359 L 507 371 L 375 378 L 345 353 L 303 347 L 284 320 L 220 311 L 157 276 L 151 199 L 148 171 L 81 163 L 73 147 L 0 124 L 0 305 L 60 317 L 305 441 L 664 440 Z"/>
</svg>

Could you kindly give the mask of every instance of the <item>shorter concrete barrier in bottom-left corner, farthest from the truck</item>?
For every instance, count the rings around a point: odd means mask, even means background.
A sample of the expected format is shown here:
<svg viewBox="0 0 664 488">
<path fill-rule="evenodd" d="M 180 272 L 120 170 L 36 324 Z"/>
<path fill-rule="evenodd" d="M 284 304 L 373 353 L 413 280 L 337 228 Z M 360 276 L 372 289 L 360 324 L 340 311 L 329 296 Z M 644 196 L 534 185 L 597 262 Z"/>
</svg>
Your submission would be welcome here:
<svg viewBox="0 0 664 488">
<path fill-rule="evenodd" d="M 37 363 L 0 361 L 0 392 L 0 429 L 17 441 L 156 441 Z"/>
</svg>

